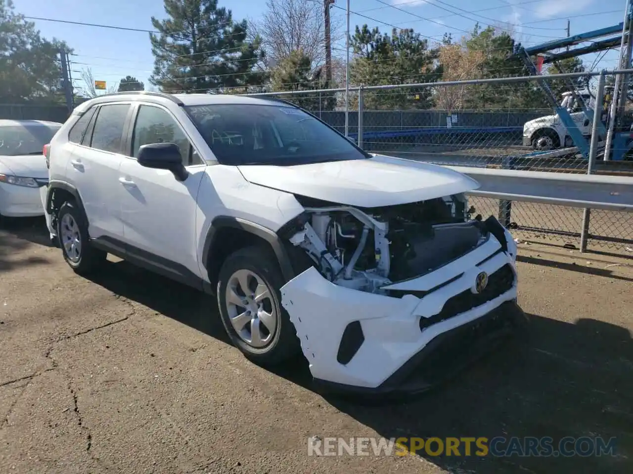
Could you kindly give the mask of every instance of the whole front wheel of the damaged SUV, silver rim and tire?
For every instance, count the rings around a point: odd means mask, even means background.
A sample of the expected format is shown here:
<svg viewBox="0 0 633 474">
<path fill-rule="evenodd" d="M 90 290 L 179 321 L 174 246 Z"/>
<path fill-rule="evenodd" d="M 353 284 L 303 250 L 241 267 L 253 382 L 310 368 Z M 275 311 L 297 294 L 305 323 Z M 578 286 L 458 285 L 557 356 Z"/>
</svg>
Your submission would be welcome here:
<svg viewBox="0 0 633 474">
<path fill-rule="evenodd" d="M 218 278 L 218 309 L 227 334 L 242 353 L 261 365 L 276 365 L 300 349 L 294 325 L 281 305 L 284 279 L 264 247 L 237 250 Z"/>
</svg>

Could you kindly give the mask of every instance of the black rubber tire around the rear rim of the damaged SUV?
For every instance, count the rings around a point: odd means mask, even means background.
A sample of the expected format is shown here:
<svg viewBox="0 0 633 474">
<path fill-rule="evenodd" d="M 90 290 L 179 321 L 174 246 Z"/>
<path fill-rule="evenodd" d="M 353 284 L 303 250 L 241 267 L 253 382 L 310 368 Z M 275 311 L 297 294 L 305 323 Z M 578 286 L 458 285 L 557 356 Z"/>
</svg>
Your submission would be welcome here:
<svg viewBox="0 0 633 474">
<path fill-rule="evenodd" d="M 70 218 L 76 222 L 79 231 L 80 251 L 77 258 L 71 258 L 68 255 L 66 246 L 63 243 L 62 238 L 62 226 L 64 224 L 64 216 L 70 216 Z M 61 253 L 64 256 L 66 263 L 75 270 L 77 274 L 89 274 L 93 270 L 97 269 L 99 265 L 103 264 L 108 257 L 108 253 L 103 250 L 94 248 L 90 243 L 88 235 L 88 223 L 85 220 L 84 214 L 77 208 L 73 202 L 65 202 L 60 207 L 57 219 L 57 236 L 60 243 Z"/>
</svg>

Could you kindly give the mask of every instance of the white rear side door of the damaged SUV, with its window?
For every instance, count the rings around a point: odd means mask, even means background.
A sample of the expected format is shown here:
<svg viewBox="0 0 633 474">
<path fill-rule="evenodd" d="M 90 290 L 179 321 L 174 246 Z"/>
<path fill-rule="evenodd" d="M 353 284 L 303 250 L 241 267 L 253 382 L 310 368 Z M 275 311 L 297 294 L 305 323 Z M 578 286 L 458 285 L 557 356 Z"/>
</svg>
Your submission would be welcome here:
<svg viewBox="0 0 633 474">
<path fill-rule="evenodd" d="M 123 236 L 119 168 L 123 160 L 123 131 L 130 119 L 130 103 L 99 106 L 82 139 L 73 147 L 66 174 L 77 186 L 92 238 Z"/>
</svg>

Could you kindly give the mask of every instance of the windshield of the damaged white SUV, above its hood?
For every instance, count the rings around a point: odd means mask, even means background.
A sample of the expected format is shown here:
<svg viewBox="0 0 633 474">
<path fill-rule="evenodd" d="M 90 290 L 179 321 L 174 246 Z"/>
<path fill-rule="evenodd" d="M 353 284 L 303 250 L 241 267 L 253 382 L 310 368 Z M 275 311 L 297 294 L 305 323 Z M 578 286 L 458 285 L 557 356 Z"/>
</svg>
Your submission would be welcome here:
<svg viewBox="0 0 633 474">
<path fill-rule="evenodd" d="M 289 166 L 368 157 L 332 128 L 294 107 L 218 104 L 186 108 L 222 164 Z"/>
</svg>

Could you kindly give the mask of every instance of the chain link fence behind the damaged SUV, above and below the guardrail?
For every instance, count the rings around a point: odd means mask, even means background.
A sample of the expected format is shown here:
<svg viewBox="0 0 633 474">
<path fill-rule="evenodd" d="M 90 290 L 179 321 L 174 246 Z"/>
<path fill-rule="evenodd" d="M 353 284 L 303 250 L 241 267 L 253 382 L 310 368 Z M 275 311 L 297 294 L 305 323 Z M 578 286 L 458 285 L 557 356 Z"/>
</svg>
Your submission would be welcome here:
<svg viewBox="0 0 633 474">
<path fill-rule="evenodd" d="M 446 166 L 633 176 L 628 95 L 617 104 L 617 122 L 608 121 L 614 82 L 611 73 L 352 87 L 347 111 L 341 89 L 268 95 L 294 102 L 378 154 Z M 633 257 L 630 213 L 471 199 L 479 214 L 498 216 L 517 238 Z"/>
</svg>

